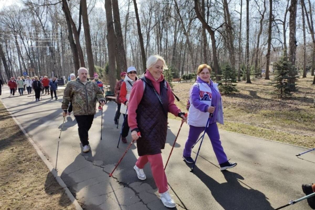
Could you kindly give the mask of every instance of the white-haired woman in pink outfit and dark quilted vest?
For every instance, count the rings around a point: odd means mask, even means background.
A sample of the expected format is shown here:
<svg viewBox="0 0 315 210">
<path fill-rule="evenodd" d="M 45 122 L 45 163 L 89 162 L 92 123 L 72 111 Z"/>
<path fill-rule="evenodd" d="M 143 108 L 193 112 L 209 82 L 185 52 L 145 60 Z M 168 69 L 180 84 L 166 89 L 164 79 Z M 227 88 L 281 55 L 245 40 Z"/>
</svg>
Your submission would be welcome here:
<svg viewBox="0 0 315 210">
<path fill-rule="evenodd" d="M 167 114 L 180 116 L 186 121 L 184 113 L 174 104 L 174 96 L 169 84 L 164 80 L 163 70 L 167 69 L 165 60 L 152 55 L 146 62 L 144 77 L 135 82 L 128 105 L 128 124 L 132 139 L 137 140 L 139 158 L 134 166 L 140 180 L 145 180 L 143 167 L 150 162 L 152 175 L 157 185 L 160 199 L 166 207 L 176 207 L 169 195 L 164 172 L 161 149 L 164 149 L 167 134 Z M 141 133 L 138 136 L 138 132 Z"/>
</svg>

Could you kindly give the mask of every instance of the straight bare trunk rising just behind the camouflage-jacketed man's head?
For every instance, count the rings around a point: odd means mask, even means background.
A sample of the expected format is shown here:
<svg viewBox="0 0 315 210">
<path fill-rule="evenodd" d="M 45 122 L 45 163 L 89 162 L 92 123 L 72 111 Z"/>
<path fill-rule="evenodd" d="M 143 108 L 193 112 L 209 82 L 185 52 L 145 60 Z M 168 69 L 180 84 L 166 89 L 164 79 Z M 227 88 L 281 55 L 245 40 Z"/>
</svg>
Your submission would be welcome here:
<svg viewBox="0 0 315 210">
<path fill-rule="evenodd" d="M 89 74 L 90 74 L 90 77 L 93 77 L 94 60 L 93 60 L 91 35 L 90 35 L 90 27 L 89 27 L 89 19 L 88 19 L 88 8 L 86 5 L 86 0 L 81 0 L 81 5 L 82 5 L 82 20 L 83 20 L 83 27 L 84 27 L 86 54 L 88 56 L 88 64 L 89 64 Z"/>
</svg>

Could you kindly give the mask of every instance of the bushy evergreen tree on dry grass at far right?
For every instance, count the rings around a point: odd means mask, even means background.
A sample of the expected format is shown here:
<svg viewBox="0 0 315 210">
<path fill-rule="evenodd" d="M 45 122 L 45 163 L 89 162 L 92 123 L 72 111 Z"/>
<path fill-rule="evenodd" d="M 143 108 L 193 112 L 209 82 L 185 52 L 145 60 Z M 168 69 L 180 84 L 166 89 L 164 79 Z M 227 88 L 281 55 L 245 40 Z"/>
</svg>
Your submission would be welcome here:
<svg viewBox="0 0 315 210">
<path fill-rule="evenodd" d="M 272 84 L 276 89 L 279 98 L 291 95 L 290 92 L 296 89 L 296 84 L 289 84 L 289 72 L 296 71 L 295 67 L 289 62 L 289 58 L 284 55 L 277 62 L 273 63 L 274 67 L 274 79 Z M 296 77 L 296 76 L 295 76 Z"/>
</svg>

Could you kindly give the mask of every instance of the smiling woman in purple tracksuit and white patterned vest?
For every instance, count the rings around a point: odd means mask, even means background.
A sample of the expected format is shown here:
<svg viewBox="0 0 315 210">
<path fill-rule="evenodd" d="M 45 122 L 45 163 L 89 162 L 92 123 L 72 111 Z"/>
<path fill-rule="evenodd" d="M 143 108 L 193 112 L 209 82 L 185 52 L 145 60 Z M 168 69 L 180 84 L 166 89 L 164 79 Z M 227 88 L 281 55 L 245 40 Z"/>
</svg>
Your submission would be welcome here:
<svg viewBox="0 0 315 210">
<path fill-rule="evenodd" d="M 197 81 L 190 89 L 190 107 L 187 123 L 189 134 L 186 141 L 183 158 L 188 163 L 194 163 L 191 152 L 192 146 L 196 143 L 200 133 L 206 128 L 215 156 L 220 164 L 221 170 L 232 168 L 237 163 L 230 163 L 227 160 L 220 141 L 220 134 L 216 122 L 223 124 L 223 106 L 218 84 L 210 79 L 211 67 L 207 64 L 199 65 Z"/>
</svg>

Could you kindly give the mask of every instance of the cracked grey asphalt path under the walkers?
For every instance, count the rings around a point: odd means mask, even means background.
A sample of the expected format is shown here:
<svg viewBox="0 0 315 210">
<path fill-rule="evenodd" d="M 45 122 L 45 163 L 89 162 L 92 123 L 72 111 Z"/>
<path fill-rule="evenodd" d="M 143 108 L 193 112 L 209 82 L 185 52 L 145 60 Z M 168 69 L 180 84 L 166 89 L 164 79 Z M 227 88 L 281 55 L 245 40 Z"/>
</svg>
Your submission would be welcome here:
<svg viewBox="0 0 315 210">
<path fill-rule="evenodd" d="M 109 177 L 128 146 L 120 142 L 117 148 L 123 116 L 117 129 L 113 122 L 115 103 L 104 106 L 102 140 L 101 112 L 97 111 L 89 132 L 91 151 L 83 153 L 74 116 L 66 117 L 61 138 L 58 138 L 63 122 L 60 108 L 62 92 L 58 92 L 58 100 L 50 100 L 50 95 L 43 95 L 39 102 L 32 101 L 32 95 L 8 96 L 9 91 L 5 88 L 0 96 L 2 102 L 56 167 L 83 209 L 167 209 L 157 196 L 150 165 L 144 168 L 145 181 L 136 176 L 133 169 L 138 158 L 136 144 L 131 146 L 113 177 Z M 162 151 L 164 164 L 179 126 L 180 121 L 169 120 L 167 143 Z M 301 184 L 314 182 L 315 152 L 297 158 L 296 154 L 307 149 L 222 130 L 220 135 L 224 150 L 228 158 L 238 165 L 221 172 L 210 140 L 205 137 L 191 173 L 191 165 L 181 158 L 187 135 L 188 126 L 183 125 L 166 168 L 170 194 L 177 203 L 174 209 L 274 209 L 302 197 Z M 127 139 L 130 143 L 130 135 Z M 196 146 L 193 158 L 197 150 Z M 301 201 L 286 209 L 310 208 L 306 201 Z"/>
</svg>

